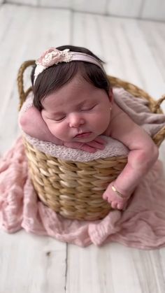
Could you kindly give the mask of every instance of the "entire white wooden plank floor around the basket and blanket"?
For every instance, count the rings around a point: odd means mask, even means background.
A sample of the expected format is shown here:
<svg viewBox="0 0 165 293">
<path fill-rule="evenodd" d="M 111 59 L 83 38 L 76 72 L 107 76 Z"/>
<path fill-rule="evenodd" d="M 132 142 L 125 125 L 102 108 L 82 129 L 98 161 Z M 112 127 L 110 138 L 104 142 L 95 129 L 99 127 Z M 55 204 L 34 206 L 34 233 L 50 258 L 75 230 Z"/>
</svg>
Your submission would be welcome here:
<svg viewBox="0 0 165 293">
<path fill-rule="evenodd" d="M 17 69 L 49 46 L 85 46 L 107 62 L 110 75 L 155 99 L 165 93 L 165 23 L 0 4 L 0 44 L 0 155 L 19 135 Z M 160 157 L 165 166 L 165 144 Z M 79 248 L 0 231 L 0 293 L 15 292 L 164 293 L 165 248 Z"/>
</svg>

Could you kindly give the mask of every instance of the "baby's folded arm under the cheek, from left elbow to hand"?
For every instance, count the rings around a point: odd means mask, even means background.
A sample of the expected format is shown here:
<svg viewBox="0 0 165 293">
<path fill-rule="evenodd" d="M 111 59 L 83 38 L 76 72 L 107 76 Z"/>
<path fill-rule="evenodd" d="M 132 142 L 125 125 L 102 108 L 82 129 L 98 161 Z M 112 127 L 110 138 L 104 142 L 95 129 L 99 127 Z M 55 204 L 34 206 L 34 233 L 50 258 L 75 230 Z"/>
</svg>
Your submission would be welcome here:
<svg viewBox="0 0 165 293">
<path fill-rule="evenodd" d="M 89 143 L 65 142 L 53 136 L 48 129 L 47 124 L 43 120 L 41 113 L 34 107 L 30 106 L 25 112 L 22 111 L 20 115 L 20 126 L 22 130 L 40 141 L 50 141 L 57 145 L 65 145 L 68 148 L 76 148 L 85 150 L 85 152 L 96 152 L 96 150 L 103 150 L 106 141 L 102 138 L 95 138 Z"/>
</svg>

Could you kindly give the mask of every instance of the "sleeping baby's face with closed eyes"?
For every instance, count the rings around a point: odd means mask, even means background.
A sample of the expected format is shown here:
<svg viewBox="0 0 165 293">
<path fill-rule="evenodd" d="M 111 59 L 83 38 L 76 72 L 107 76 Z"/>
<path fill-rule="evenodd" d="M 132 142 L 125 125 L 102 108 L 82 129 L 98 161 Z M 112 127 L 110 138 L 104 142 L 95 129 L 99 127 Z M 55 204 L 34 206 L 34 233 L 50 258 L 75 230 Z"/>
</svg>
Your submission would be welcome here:
<svg viewBox="0 0 165 293">
<path fill-rule="evenodd" d="M 110 98 L 78 75 L 42 104 L 43 120 L 62 141 L 87 143 L 103 134 L 110 123 Z"/>
</svg>

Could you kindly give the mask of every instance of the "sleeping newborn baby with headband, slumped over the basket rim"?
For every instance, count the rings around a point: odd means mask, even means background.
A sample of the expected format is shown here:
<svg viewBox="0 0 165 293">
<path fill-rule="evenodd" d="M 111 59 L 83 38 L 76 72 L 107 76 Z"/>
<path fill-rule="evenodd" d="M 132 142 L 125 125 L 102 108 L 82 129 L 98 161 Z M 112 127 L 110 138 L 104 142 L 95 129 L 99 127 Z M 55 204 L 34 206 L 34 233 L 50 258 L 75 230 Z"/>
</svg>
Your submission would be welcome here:
<svg viewBox="0 0 165 293">
<path fill-rule="evenodd" d="M 103 193 L 112 208 L 122 210 L 159 152 L 147 132 L 115 103 L 101 60 L 85 48 L 50 48 L 37 60 L 31 79 L 33 105 L 20 115 L 26 134 L 86 152 L 103 150 L 101 135 L 127 146 L 127 165 Z"/>
</svg>

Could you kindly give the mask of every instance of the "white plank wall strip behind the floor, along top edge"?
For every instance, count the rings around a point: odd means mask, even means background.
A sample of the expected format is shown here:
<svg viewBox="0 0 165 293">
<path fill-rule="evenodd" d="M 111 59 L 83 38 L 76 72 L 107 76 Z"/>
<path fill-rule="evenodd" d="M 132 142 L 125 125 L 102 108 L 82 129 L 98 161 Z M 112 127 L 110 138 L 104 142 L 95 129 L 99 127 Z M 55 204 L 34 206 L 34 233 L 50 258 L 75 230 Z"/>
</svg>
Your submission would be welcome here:
<svg viewBox="0 0 165 293">
<path fill-rule="evenodd" d="M 0 3 L 2 2 L 3 0 L 0 0 Z M 164 0 L 7 0 L 6 2 L 25 6 L 69 8 L 87 13 L 165 21 Z"/>
</svg>

